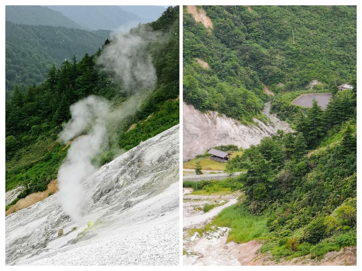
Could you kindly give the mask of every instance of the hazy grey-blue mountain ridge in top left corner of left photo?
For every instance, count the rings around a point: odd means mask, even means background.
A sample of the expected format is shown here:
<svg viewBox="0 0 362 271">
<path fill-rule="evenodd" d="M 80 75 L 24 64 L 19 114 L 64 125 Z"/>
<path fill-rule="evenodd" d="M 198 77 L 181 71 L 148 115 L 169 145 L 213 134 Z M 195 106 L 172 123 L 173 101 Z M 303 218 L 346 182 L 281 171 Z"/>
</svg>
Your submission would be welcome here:
<svg viewBox="0 0 362 271">
<path fill-rule="evenodd" d="M 5 6 L 5 20 L 25 25 L 50 25 L 85 28 L 61 12 L 42 6 Z"/>
</svg>

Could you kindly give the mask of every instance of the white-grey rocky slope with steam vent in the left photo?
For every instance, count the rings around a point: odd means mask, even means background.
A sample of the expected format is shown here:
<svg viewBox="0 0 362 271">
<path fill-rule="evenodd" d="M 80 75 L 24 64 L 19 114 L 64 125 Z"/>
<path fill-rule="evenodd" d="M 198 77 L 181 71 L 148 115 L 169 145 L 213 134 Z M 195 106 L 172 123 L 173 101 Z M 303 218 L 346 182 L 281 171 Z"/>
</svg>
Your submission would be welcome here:
<svg viewBox="0 0 362 271">
<path fill-rule="evenodd" d="M 8 215 L 6 264 L 178 265 L 178 146 L 176 125 L 85 180 L 90 200 L 82 214 L 96 222 L 86 231 L 87 223 L 64 214 L 56 194 Z"/>
</svg>

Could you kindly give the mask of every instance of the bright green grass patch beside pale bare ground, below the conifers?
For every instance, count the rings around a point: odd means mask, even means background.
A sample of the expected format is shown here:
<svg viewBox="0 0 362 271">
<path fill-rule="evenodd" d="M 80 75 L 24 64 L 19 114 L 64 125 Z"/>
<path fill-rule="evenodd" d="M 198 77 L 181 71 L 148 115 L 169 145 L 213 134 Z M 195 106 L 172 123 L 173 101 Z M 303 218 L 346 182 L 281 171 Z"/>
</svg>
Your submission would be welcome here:
<svg viewBox="0 0 362 271">
<path fill-rule="evenodd" d="M 266 216 L 250 214 L 244 203 L 225 208 L 212 221 L 218 227 L 231 228 L 227 242 L 246 243 L 254 239 L 267 239 L 269 230 Z"/>
</svg>

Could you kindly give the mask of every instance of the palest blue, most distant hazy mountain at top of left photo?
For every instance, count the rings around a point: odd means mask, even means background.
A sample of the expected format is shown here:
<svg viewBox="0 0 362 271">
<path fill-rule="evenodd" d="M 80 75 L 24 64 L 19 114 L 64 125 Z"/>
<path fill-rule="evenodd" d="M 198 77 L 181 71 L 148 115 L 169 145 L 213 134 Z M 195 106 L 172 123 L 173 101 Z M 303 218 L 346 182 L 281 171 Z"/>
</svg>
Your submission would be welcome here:
<svg viewBox="0 0 362 271">
<path fill-rule="evenodd" d="M 123 10 L 119 6 L 47 6 L 57 10 L 73 21 L 87 26 L 89 29 L 116 30 L 121 26 L 136 26 L 146 22 L 142 17 Z M 161 13 L 159 16 L 160 17 Z M 153 21 L 153 20 L 152 20 Z M 150 22 L 150 21 L 147 21 Z"/>
</svg>

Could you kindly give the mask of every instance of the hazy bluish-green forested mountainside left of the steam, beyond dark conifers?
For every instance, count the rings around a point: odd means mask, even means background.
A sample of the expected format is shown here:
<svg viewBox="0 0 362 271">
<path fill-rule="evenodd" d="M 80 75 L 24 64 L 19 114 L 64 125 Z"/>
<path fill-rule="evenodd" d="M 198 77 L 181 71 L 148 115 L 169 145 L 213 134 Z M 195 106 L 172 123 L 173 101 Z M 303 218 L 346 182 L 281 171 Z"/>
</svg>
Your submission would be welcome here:
<svg viewBox="0 0 362 271">
<path fill-rule="evenodd" d="M 7 98 L 18 85 L 38 85 L 53 63 L 60 66 L 75 55 L 95 53 L 110 31 L 87 31 L 55 26 L 5 22 L 5 91 Z"/>
</svg>

